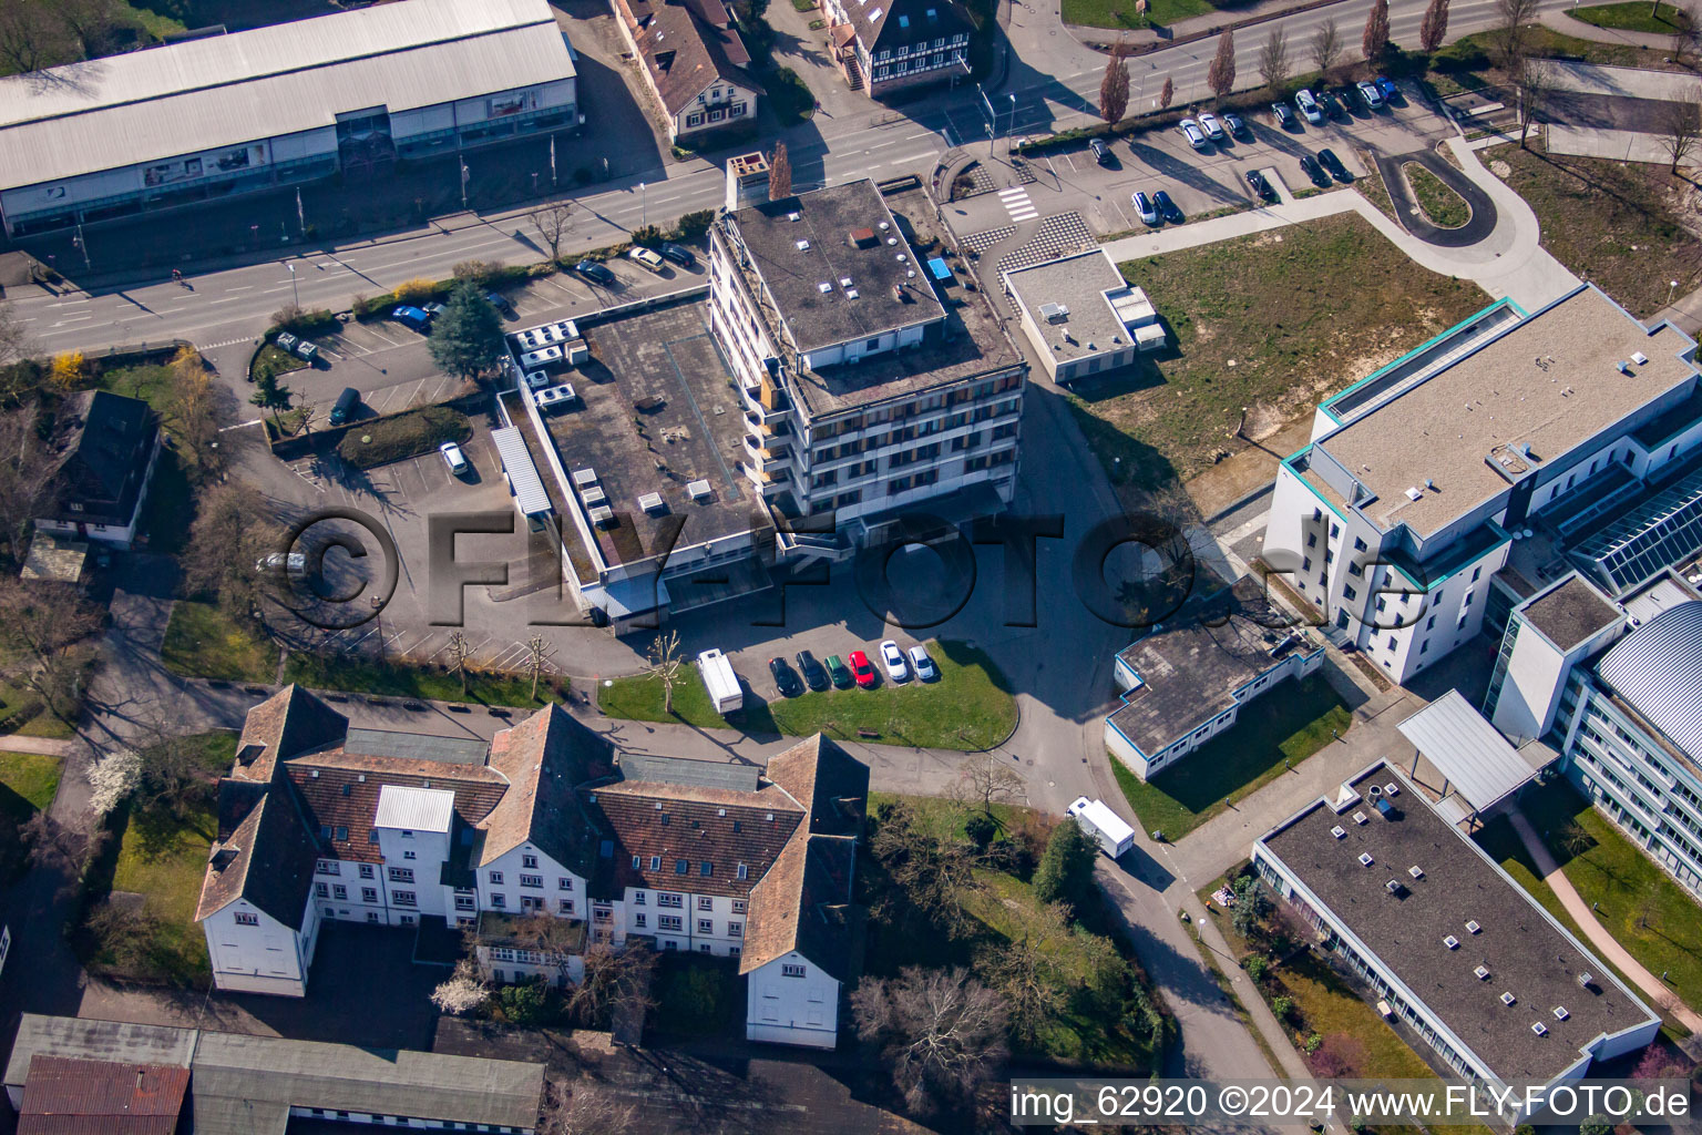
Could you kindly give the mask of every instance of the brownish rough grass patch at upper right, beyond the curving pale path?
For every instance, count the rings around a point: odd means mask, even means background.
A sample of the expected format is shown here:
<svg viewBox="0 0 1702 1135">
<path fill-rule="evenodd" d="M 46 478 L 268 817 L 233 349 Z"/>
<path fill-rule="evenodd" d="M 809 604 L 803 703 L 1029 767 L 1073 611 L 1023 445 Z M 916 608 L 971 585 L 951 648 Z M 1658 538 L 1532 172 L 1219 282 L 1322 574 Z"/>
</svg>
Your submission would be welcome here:
<svg viewBox="0 0 1702 1135">
<path fill-rule="evenodd" d="M 1692 191 L 1665 165 L 1551 157 L 1537 145 L 1496 146 L 1486 160 L 1510 167 L 1505 180 L 1535 209 L 1542 247 L 1632 315 L 1666 306 L 1668 281 L 1680 296 L 1702 284 L 1697 237 L 1678 223 L 1680 191 Z"/>
</svg>

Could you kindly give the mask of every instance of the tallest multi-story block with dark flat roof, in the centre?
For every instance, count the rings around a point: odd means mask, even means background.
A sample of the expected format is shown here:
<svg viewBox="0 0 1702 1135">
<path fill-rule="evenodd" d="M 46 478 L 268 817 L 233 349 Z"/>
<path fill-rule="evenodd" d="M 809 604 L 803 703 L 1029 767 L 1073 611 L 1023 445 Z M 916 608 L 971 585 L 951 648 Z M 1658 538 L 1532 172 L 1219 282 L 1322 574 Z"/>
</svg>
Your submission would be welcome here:
<svg viewBox="0 0 1702 1135">
<path fill-rule="evenodd" d="M 742 473 L 783 517 L 831 517 L 824 555 L 1009 505 L 1028 366 L 914 177 L 734 208 L 710 240 Z"/>
</svg>

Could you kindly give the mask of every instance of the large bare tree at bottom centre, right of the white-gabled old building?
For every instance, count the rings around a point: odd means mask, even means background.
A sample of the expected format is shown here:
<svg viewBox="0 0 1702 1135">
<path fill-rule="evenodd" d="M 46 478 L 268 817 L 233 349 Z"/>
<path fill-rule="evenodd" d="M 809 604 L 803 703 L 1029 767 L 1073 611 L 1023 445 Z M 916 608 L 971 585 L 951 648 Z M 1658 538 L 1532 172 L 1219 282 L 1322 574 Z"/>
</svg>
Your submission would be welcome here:
<svg viewBox="0 0 1702 1135">
<path fill-rule="evenodd" d="M 851 1014 L 858 1036 L 882 1047 L 894 1084 L 916 1111 L 974 1096 L 1006 1055 L 1004 1006 L 963 967 L 865 977 L 851 994 Z"/>
</svg>

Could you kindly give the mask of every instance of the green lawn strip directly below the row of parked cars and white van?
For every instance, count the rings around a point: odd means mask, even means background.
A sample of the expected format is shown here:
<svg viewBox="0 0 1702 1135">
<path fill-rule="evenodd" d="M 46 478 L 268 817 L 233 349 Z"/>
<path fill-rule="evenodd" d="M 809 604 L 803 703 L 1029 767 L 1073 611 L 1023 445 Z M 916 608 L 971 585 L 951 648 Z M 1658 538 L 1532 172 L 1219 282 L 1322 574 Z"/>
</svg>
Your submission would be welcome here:
<svg viewBox="0 0 1702 1135">
<path fill-rule="evenodd" d="M 684 664 L 674 684 L 674 713 L 662 710 L 662 682 L 648 674 L 618 677 L 597 691 L 609 716 L 637 721 L 684 721 L 708 728 L 778 732 L 793 737 L 827 733 L 839 740 L 873 740 L 921 749 L 979 750 L 997 745 L 1016 728 L 1016 701 L 992 660 L 955 642 L 933 642 L 928 653 L 940 667 L 938 682 L 882 682 L 875 689 L 827 689 L 769 703 L 749 687 L 745 706 L 728 721 L 711 706 L 698 667 Z M 766 672 L 762 676 L 768 677 Z M 870 730 L 878 737 L 860 737 Z"/>
</svg>

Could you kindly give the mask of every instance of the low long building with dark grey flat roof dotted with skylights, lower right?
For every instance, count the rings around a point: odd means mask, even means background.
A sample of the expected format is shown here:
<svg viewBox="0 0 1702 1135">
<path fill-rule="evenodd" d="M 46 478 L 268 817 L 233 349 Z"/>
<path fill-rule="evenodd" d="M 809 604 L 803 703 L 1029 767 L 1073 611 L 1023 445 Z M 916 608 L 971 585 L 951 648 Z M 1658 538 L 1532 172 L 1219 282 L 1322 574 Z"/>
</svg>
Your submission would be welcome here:
<svg viewBox="0 0 1702 1135">
<path fill-rule="evenodd" d="M 1600 958 L 1389 764 L 1261 836 L 1253 864 L 1406 1036 L 1472 1082 L 1576 1081 L 1659 1031 Z"/>
</svg>

